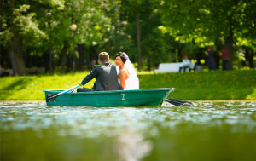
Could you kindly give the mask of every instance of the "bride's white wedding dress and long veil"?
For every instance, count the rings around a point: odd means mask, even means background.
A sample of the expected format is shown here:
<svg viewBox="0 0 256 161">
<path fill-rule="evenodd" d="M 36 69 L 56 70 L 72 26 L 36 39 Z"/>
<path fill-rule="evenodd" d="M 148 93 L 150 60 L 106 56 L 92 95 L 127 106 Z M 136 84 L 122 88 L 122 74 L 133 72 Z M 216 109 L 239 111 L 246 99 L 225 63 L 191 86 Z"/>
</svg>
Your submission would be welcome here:
<svg viewBox="0 0 256 161">
<path fill-rule="evenodd" d="M 131 64 L 131 61 L 129 60 L 128 55 L 125 54 L 125 57 L 126 57 L 125 67 L 130 73 L 130 78 L 125 80 L 124 90 L 139 89 L 139 79 L 137 78 L 137 73 L 135 72 L 135 69 Z M 118 73 L 119 73 L 119 67 L 117 66 L 117 74 Z M 118 82 L 120 83 L 120 79 L 118 79 Z"/>
</svg>

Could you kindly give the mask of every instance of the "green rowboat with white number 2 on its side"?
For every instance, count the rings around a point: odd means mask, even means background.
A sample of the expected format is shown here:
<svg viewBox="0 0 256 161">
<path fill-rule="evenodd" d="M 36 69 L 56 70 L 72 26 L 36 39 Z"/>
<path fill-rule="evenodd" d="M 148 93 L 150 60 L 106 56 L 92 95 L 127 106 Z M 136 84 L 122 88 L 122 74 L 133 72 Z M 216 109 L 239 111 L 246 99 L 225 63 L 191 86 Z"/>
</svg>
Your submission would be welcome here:
<svg viewBox="0 0 256 161">
<path fill-rule="evenodd" d="M 58 94 L 64 90 L 43 90 L 45 99 L 49 94 Z M 75 92 L 59 95 L 47 106 L 161 106 L 172 89 L 137 89 L 95 92 Z"/>
</svg>

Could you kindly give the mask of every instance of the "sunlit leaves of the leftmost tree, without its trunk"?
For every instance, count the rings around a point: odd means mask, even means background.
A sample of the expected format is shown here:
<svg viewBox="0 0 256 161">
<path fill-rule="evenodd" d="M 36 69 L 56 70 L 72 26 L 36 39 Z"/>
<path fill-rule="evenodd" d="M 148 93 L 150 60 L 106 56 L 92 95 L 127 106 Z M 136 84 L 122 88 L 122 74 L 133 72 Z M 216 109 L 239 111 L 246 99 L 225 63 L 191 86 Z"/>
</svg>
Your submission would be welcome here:
<svg viewBox="0 0 256 161">
<path fill-rule="evenodd" d="M 2 3 L 2 2 L 1 2 Z M 1 7 L 1 43 L 7 45 L 14 32 L 18 32 L 23 39 L 29 40 L 24 46 L 35 46 L 38 41 L 47 37 L 45 32 L 39 27 L 40 20 L 37 15 L 45 11 L 42 6 L 51 4 L 53 7 L 62 6 L 62 0 L 39 1 L 39 2 L 14 2 L 2 3 Z M 44 19 L 43 19 L 44 20 Z"/>
</svg>

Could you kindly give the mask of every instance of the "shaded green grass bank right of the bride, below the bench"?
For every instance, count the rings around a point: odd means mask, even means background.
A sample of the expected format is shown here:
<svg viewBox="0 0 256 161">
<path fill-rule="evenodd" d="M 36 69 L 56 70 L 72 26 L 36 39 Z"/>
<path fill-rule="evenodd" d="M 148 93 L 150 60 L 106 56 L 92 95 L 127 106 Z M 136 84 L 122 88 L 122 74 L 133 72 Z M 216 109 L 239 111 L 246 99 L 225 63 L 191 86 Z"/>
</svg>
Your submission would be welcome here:
<svg viewBox="0 0 256 161">
<path fill-rule="evenodd" d="M 141 87 L 176 89 L 169 97 L 187 100 L 255 100 L 256 71 L 185 72 L 141 75 Z"/>
</svg>

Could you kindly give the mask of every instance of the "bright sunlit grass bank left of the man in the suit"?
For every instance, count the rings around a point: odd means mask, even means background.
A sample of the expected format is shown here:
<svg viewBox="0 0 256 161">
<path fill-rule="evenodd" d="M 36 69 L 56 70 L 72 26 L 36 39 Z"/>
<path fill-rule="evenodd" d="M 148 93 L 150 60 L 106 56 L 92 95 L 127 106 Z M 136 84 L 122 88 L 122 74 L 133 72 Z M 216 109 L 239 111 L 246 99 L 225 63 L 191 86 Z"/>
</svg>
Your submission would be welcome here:
<svg viewBox="0 0 256 161">
<path fill-rule="evenodd" d="M 1 78 L 1 100 L 44 100 L 44 89 L 69 89 L 82 81 L 89 72 L 54 76 Z M 3 83 L 2 83 L 3 82 Z M 86 84 L 91 88 L 94 80 Z"/>
</svg>

